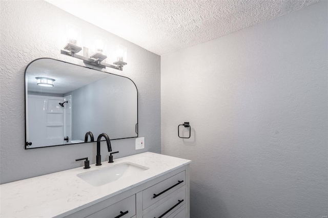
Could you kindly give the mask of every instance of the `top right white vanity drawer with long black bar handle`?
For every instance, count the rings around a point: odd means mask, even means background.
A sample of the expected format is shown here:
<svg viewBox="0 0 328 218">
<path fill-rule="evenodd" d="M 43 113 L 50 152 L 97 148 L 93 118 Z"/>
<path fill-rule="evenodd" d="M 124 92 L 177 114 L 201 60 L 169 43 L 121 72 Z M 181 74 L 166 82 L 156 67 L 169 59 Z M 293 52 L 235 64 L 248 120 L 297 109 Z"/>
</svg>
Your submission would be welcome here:
<svg viewBox="0 0 328 218">
<path fill-rule="evenodd" d="M 173 177 L 170 177 L 169 179 L 166 179 L 142 191 L 143 209 L 145 210 L 152 204 L 165 198 L 168 194 L 184 186 L 186 183 L 185 174 L 185 171 L 182 171 L 177 175 L 174 175 Z"/>
</svg>

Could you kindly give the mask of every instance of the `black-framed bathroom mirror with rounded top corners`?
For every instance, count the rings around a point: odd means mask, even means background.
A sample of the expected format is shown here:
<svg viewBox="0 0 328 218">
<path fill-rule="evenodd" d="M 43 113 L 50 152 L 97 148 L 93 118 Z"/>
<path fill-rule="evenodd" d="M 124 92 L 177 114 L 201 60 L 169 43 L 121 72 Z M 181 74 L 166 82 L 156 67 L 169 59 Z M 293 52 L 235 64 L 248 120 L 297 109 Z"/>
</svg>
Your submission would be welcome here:
<svg viewBox="0 0 328 218">
<path fill-rule="evenodd" d="M 138 91 L 123 76 L 39 58 L 25 70 L 25 148 L 138 137 Z M 88 137 L 90 142 L 91 137 Z"/>
</svg>

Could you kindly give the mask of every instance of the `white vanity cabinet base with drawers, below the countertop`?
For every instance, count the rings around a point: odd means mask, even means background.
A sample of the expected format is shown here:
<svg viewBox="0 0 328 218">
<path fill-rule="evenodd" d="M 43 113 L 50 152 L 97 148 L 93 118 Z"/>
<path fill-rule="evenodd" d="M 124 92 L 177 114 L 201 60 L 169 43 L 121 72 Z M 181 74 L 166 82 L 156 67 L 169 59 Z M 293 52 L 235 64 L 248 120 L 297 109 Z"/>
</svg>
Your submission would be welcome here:
<svg viewBox="0 0 328 218">
<path fill-rule="evenodd" d="M 189 165 L 185 165 L 64 217 L 186 218 L 189 179 Z"/>
</svg>

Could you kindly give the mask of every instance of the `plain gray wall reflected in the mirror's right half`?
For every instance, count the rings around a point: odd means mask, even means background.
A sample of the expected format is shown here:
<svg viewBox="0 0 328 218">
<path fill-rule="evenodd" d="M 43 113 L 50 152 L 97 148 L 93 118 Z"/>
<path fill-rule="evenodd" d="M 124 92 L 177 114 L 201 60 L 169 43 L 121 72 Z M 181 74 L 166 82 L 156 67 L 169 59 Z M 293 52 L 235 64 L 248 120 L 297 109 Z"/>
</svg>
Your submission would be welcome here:
<svg viewBox="0 0 328 218">
<path fill-rule="evenodd" d="M 84 140 L 89 131 L 96 137 L 105 129 L 110 139 L 136 137 L 137 105 L 136 86 L 121 76 L 108 75 L 74 90 L 72 140 Z"/>
</svg>

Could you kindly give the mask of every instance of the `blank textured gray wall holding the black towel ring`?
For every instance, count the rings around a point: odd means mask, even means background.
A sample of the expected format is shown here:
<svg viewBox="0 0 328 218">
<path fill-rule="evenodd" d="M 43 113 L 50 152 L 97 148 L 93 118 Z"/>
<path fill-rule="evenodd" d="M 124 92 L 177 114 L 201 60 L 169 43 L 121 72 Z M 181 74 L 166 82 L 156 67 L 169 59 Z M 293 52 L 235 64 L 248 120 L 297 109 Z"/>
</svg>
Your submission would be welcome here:
<svg viewBox="0 0 328 218">
<path fill-rule="evenodd" d="M 162 154 L 193 161 L 192 217 L 328 215 L 327 4 L 161 57 Z"/>
</svg>

